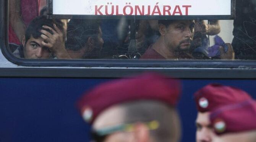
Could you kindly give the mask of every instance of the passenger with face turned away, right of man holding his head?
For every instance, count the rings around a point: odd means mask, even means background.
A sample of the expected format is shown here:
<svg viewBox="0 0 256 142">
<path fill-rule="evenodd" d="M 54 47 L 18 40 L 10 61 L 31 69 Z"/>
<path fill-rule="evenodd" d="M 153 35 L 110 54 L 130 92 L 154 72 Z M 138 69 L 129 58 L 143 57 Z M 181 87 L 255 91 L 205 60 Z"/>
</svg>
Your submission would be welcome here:
<svg viewBox="0 0 256 142">
<path fill-rule="evenodd" d="M 72 59 L 100 58 L 103 44 L 99 21 L 71 19 L 68 23 L 66 49 Z"/>
</svg>

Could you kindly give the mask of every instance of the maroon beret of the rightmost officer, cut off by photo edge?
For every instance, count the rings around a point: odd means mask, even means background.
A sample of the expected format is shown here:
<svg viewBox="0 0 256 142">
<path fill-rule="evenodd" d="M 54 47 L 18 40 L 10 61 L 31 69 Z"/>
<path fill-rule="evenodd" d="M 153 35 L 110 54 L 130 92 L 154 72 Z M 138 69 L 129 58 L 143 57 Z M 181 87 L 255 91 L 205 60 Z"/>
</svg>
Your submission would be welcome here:
<svg viewBox="0 0 256 142">
<path fill-rule="evenodd" d="M 220 107 L 210 115 L 216 134 L 256 130 L 256 101 L 253 99 Z"/>
</svg>

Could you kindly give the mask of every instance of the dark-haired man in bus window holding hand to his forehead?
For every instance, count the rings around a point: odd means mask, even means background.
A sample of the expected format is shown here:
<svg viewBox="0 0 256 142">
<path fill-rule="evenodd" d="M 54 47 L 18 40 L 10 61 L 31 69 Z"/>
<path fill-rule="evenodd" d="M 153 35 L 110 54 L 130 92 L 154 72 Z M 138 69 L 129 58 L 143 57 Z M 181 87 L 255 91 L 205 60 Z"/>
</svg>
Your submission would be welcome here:
<svg viewBox="0 0 256 142">
<path fill-rule="evenodd" d="M 22 46 L 19 46 L 13 54 L 18 58 L 70 59 L 65 49 L 62 31 L 52 19 L 47 19 L 46 16 L 39 16 L 32 20 L 26 29 Z"/>
</svg>

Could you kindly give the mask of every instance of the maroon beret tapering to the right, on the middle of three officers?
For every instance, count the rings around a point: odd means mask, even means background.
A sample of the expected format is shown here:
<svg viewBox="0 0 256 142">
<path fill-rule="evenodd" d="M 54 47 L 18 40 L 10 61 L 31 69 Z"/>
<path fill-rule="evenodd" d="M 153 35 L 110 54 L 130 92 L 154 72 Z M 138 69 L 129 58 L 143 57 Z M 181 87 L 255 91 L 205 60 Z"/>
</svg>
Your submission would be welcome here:
<svg viewBox="0 0 256 142">
<path fill-rule="evenodd" d="M 194 93 L 196 107 L 199 112 L 208 112 L 221 106 L 251 99 L 241 89 L 220 84 L 209 84 Z"/>
</svg>

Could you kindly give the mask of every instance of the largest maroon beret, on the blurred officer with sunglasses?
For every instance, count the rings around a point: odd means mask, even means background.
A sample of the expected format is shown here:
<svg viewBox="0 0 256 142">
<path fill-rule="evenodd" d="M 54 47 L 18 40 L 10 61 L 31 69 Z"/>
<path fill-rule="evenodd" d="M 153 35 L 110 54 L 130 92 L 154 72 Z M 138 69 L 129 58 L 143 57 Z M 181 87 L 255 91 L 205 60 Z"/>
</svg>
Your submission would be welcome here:
<svg viewBox="0 0 256 142">
<path fill-rule="evenodd" d="M 79 99 L 78 109 L 85 121 L 93 123 L 100 112 L 114 104 L 134 100 L 156 100 L 175 106 L 180 91 L 178 80 L 146 73 L 132 78 L 112 80 L 95 87 Z"/>
</svg>

